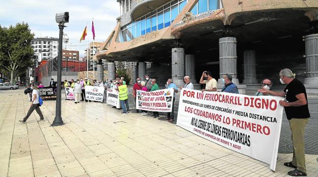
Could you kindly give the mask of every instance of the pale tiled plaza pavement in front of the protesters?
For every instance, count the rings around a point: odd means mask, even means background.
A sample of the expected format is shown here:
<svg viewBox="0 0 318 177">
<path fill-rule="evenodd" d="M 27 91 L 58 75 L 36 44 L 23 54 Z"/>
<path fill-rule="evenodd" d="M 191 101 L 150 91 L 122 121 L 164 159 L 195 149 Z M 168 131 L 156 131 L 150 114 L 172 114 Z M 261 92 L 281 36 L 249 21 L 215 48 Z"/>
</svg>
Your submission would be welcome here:
<svg viewBox="0 0 318 177">
<path fill-rule="evenodd" d="M 44 122 L 34 111 L 21 124 L 30 107 L 23 90 L 0 91 L 0 99 L 0 176 L 288 176 L 293 170 L 283 166 L 290 153 L 278 154 L 273 172 L 175 124 L 104 103 L 62 100 L 65 125 L 50 127 L 55 101 L 41 106 Z M 306 154 L 308 176 L 318 176 L 317 158 Z"/>
</svg>

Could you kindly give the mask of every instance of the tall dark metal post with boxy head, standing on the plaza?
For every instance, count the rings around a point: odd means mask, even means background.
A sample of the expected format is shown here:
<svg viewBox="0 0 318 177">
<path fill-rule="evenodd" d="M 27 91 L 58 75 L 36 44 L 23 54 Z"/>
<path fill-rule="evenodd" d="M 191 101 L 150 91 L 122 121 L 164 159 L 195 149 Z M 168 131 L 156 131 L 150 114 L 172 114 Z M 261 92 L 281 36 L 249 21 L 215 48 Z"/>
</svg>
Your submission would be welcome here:
<svg viewBox="0 0 318 177">
<path fill-rule="evenodd" d="M 57 84 L 57 99 L 56 99 L 56 111 L 55 118 L 51 126 L 63 125 L 61 116 L 61 81 L 62 81 L 62 46 L 63 46 L 63 29 L 64 23 L 68 23 L 68 12 L 56 14 L 56 22 L 59 23 L 60 35 L 59 35 L 59 54 L 58 54 L 58 84 Z"/>
</svg>

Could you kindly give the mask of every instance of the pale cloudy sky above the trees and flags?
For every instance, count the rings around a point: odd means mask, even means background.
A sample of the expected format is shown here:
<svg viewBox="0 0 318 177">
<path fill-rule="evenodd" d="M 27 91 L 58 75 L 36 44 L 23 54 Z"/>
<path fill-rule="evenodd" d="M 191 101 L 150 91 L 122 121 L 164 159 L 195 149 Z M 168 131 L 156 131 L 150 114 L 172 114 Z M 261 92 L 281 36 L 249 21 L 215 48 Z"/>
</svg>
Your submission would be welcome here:
<svg viewBox="0 0 318 177">
<path fill-rule="evenodd" d="M 103 42 L 116 26 L 120 16 L 116 0 L 0 0 L 0 25 L 9 27 L 18 22 L 28 23 L 37 37 L 59 38 L 59 26 L 55 20 L 57 13 L 69 12 L 69 23 L 65 23 L 64 34 L 69 37 L 63 48 L 80 51 L 84 56 L 87 39 L 80 43 L 87 25 L 88 42 L 92 39 L 92 19 L 94 18 L 95 42 Z"/>
</svg>

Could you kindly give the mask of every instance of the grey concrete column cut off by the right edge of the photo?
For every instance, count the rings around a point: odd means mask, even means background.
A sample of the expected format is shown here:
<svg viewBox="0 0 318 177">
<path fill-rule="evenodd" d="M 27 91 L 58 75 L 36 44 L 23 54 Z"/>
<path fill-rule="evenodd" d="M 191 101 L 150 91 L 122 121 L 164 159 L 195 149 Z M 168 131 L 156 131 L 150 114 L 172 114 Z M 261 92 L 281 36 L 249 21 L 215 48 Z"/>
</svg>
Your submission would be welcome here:
<svg viewBox="0 0 318 177">
<path fill-rule="evenodd" d="M 307 93 L 318 94 L 318 34 L 305 36 Z"/>
</svg>

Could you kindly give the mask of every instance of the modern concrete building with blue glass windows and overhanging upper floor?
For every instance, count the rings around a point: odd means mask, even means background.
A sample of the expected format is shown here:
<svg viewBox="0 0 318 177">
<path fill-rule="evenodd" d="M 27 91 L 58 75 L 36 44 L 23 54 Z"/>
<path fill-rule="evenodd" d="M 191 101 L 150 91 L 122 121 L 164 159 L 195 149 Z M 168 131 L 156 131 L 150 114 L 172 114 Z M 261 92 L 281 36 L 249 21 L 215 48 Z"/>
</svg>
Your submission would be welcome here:
<svg viewBox="0 0 318 177">
<path fill-rule="evenodd" d="M 203 71 L 226 73 L 240 93 L 263 78 L 279 85 L 289 68 L 318 93 L 318 1 L 316 0 L 117 0 L 121 16 L 97 52 L 108 61 L 138 62 L 139 76 L 151 73 L 177 85 Z M 305 42 L 304 42 L 305 41 Z M 146 69 L 145 62 L 152 62 Z M 219 88 L 223 86 L 218 80 Z M 162 86 L 162 85 L 161 85 Z"/>
</svg>

